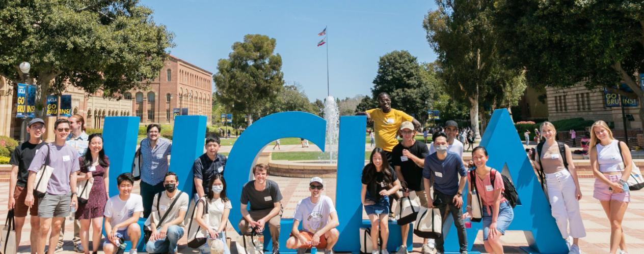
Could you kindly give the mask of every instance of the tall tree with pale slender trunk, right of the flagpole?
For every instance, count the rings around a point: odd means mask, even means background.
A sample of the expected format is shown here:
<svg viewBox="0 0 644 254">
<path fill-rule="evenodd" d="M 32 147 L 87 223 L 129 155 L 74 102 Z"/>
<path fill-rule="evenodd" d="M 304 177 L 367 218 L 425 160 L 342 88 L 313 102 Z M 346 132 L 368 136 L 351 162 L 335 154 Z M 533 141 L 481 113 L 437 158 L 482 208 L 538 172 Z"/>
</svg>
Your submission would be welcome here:
<svg viewBox="0 0 644 254">
<path fill-rule="evenodd" d="M 497 38 L 489 21 L 492 1 L 437 0 L 436 3 L 438 10 L 429 12 L 423 22 L 427 40 L 439 55 L 437 71 L 444 81 L 445 92 L 457 101 L 469 101 L 471 128 L 475 140 L 479 141 L 479 109 L 486 102 L 486 95 L 502 85 L 498 83 L 504 80 L 500 75 L 521 72 L 501 64 Z"/>
</svg>

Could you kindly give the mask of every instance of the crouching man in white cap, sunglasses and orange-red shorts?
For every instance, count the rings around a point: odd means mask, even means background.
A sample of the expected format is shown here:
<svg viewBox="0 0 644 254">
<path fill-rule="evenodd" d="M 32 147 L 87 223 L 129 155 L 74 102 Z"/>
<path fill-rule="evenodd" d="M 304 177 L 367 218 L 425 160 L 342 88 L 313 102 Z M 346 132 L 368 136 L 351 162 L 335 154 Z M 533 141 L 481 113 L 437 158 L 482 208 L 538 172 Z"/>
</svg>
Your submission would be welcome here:
<svg viewBox="0 0 644 254">
<path fill-rule="evenodd" d="M 304 254 L 307 248 L 313 247 L 325 250 L 325 254 L 332 254 L 340 235 L 336 229 L 340 224 L 336 208 L 331 198 L 321 195 L 324 188 L 322 178 L 314 177 L 308 184 L 311 196 L 300 200 L 295 208 L 293 229 L 286 247 L 298 249 L 298 254 Z M 298 230 L 300 222 L 302 230 Z"/>
</svg>

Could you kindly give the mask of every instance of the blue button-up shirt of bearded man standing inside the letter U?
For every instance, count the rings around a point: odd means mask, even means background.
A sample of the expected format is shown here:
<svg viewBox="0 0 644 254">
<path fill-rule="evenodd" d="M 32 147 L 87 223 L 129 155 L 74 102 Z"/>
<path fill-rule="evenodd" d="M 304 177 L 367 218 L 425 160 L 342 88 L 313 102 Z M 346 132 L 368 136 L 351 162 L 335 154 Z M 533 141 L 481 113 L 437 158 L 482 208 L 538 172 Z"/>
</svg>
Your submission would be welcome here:
<svg viewBox="0 0 644 254">
<path fill-rule="evenodd" d="M 141 181 L 156 185 L 163 182 L 168 171 L 167 156 L 170 155 L 172 142 L 162 137 L 156 141 L 154 149 L 150 147 L 147 139 L 141 140 L 141 156 L 143 165 L 141 165 Z"/>
</svg>

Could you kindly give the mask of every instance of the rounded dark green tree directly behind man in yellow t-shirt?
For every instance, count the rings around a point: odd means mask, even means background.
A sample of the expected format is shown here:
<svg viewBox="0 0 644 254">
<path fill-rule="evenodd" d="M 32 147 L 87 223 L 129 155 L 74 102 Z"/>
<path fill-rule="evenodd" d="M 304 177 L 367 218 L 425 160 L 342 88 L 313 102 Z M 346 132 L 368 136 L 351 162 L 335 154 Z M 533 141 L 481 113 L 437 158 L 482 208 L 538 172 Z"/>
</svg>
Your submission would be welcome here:
<svg viewBox="0 0 644 254">
<path fill-rule="evenodd" d="M 422 74 L 417 58 L 408 51 L 393 51 L 380 57 L 378 73 L 374 78 L 372 96 L 386 92 L 392 99 L 392 108 L 407 114 L 420 114 L 426 109 L 430 97 L 428 83 Z"/>
</svg>

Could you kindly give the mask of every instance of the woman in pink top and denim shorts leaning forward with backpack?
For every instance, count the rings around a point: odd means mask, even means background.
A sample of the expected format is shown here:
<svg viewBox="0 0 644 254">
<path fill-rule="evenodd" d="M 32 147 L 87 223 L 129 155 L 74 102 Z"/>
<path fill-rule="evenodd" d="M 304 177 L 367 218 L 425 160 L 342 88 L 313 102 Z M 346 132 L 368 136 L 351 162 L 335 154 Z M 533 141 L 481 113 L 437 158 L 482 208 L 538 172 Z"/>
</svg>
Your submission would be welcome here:
<svg viewBox="0 0 644 254">
<path fill-rule="evenodd" d="M 503 185 L 501 173 L 496 169 L 486 166 L 488 162 L 488 151 L 477 146 L 472 151 L 472 160 L 475 169 L 475 183 L 477 185 L 478 196 L 482 201 L 483 216 L 483 243 L 488 253 L 503 254 L 503 246 L 499 241 L 501 235 L 506 234 L 507 226 L 510 225 L 515 213 L 510 203 L 502 195 L 506 189 Z M 491 174 L 495 174 L 494 183 L 491 183 Z M 471 183 L 471 173 L 468 173 L 468 182 Z M 463 214 L 463 219 L 472 217 L 471 195 L 468 195 L 467 212 Z"/>
</svg>

